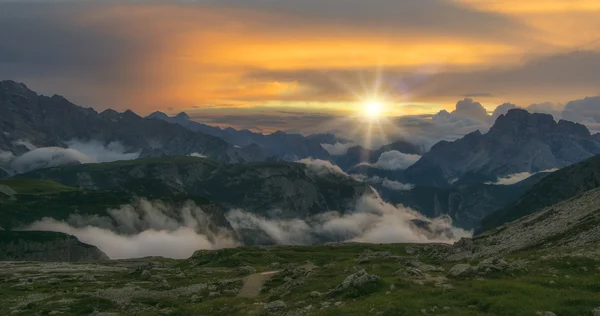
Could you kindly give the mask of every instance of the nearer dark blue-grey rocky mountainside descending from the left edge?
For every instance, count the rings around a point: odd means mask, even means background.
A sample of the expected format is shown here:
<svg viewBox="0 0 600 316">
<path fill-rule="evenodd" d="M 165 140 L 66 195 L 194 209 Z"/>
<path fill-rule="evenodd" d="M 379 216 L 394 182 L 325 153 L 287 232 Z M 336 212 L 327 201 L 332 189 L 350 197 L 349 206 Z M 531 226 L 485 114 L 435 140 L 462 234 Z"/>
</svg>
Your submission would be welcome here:
<svg viewBox="0 0 600 316">
<path fill-rule="evenodd" d="M 38 95 L 25 85 L 0 82 L 0 150 L 18 156 L 36 147 L 66 147 L 70 140 L 120 142 L 142 156 L 199 153 L 225 161 L 265 160 L 267 152 L 246 151 L 224 140 L 189 131 L 161 120 L 144 119 L 132 111 L 97 113 L 54 95 Z M 27 145 L 30 143 L 31 145 Z"/>
</svg>

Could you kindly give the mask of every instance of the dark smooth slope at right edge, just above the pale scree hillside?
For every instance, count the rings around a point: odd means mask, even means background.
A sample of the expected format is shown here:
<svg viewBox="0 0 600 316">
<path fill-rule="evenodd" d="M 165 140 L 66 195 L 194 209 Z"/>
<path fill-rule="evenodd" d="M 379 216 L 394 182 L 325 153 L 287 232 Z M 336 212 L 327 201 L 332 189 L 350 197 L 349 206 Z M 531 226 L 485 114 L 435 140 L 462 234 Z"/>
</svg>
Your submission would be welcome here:
<svg viewBox="0 0 600 316">
<path fill-rule="evenodd" d="M 482 221 L 483 232 L 600 187 L 600 156 L 553 172 L 510 206 Z"/>
</svg>

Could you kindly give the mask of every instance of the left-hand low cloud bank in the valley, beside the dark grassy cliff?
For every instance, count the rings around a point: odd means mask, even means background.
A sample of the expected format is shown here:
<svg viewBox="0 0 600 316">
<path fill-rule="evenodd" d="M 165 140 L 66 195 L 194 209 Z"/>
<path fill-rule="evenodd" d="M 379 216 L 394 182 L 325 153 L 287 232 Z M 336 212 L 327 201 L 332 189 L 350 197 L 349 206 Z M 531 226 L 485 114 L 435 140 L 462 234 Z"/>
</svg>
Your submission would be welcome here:
<svg viewBox="0 0 600 316">
<path fill-rule="evenodd" d="M 98 247 L 111 259 L 147 256 L 183 259 L 198 249 L 238 245 L 231 231 L 210 229 L 210 217 L 193 202 L 176 209 L 142 199 L 108 213 L 108 217 L 71 216 L 66 222 L 44 218 L 26 230 L 71 234 Z"/>
</svg>

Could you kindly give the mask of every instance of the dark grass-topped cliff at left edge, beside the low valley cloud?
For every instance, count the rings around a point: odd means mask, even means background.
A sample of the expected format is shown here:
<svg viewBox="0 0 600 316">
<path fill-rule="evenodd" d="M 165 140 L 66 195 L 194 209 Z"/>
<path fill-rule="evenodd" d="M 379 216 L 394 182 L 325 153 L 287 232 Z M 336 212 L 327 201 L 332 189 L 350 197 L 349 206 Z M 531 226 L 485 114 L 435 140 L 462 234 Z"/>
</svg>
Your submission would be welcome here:
<svg viewBox="0 0 600 316">
<path fill-rule="evenodd" d="M 89 262 L 108 260 L 108 256 L 63 233 L 0 231 L 0 260 Z"/>
</svg>

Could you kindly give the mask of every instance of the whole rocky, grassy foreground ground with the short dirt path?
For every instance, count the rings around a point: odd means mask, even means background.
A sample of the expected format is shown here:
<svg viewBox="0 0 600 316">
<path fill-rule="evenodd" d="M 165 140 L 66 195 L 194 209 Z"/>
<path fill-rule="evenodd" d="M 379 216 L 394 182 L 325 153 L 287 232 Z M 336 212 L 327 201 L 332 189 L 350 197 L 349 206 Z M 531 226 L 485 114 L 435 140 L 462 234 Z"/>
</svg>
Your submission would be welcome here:
<svg viewBox="0 0 600 316">
<path fill-rule="evenodd" d="M 3 315 L 598 315 L 600 257 L 446 245 L 198 251 L 187 260 L 0 262 Z"/>
</svg>

